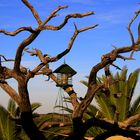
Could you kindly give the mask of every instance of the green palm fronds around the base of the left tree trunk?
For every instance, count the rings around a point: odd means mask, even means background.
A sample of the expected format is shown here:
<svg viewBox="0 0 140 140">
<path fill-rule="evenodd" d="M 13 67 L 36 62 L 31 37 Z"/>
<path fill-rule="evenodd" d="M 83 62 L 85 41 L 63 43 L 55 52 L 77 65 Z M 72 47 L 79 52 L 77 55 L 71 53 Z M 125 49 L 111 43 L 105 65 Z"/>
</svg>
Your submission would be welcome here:
<svg viewBox="0 0 140 140">
<path fill-rule="evenodd" d="M 32 112 L 41 106 L 40 103 L 31 104 Z M 28 136 L 24 132 L 22 125 L 20 125 L 20 110 L 16 106 L 16 103 L 10 99 L 8 102 L 7 110 L 0 105 L 0 140 L 29 140 Z M 34 115 L 34 121 L 38 128 L 41 130 L 43 123 L 50 118 L 46 116 Z M 18 122 L 18 124 L 17 124 Z"/>
</svg>

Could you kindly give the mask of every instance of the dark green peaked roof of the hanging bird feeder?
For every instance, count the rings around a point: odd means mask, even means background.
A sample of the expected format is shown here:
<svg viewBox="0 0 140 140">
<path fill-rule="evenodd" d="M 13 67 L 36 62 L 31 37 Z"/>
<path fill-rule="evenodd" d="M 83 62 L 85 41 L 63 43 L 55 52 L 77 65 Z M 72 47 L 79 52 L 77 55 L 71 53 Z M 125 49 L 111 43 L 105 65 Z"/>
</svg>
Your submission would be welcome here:
<svg viewBox="0 0 140 140">
<path fill-rule="evenodd" d="M 72 76 L 75 75 L 77 72 L 71 68 L 69 65 L 67 64 L 63 64 L 60 67 L 58 67 L 54 73 L 63 73 L 63 74 L 71 74 Z"/>
</svg>

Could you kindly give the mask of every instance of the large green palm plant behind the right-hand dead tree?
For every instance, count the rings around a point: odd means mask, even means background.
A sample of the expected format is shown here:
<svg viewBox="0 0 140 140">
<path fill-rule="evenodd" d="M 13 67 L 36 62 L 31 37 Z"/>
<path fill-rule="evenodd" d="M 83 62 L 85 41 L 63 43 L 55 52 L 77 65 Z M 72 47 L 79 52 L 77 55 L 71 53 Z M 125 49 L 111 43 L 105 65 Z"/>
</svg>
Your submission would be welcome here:
<svg viewBox="0 0 140 140">
<path fill-rule="evenodd" d="M 126 67 L 121 72 L 111 75 L 111 85 L 109 86 L 109 95 L 103 92 L 98 92 L 95 95 L 96 109 L 93 105 L 93 110 L 87 109 L 84 117 L 87 119 L 95 116 L 98 118 L 106 118 L 109 120 L 123 121 L 130 116 L 140 113 L 140 96 L 135 100 L 134 91 L 139 77 L 139 69 L 135 70 L 127 76 L 128 70 Z M 97 82 L 106 84 L 106 76 L 98 77 Z M 87 81 L 81 81 L 85 86 L 88 85 Z M 133 102 L 132 102 L 133 101 Z M 90 112 L 91 111 L 91 112 Z M 118 116 L 116 115 L 118 114 Z M 137 123 L 138 124 L 138 123 Z M 94 127 L 88 130 L 87 134 L 95 136 L 104 132 L 104 130 Z"/>
</svg>

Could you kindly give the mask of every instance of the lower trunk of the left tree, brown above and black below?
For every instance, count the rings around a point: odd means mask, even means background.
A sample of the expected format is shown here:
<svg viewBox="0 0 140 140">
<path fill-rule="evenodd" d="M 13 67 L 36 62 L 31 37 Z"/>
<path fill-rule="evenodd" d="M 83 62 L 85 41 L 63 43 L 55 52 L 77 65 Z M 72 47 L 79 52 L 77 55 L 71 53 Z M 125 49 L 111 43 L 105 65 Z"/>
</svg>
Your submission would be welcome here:
<svg viewBox="0 0 140 140">
<path fill-rule="evenodd" d="M 18 91 L 21 98 L 19 107 L 21 111 L 21 124 L 24 131 L 26 132 L 30 140 L 46 140 L 45 136 L 39 131 L 33 121 L 27 82 L 25 82 L 24 79 L 19 81 Z"/>
</svg>

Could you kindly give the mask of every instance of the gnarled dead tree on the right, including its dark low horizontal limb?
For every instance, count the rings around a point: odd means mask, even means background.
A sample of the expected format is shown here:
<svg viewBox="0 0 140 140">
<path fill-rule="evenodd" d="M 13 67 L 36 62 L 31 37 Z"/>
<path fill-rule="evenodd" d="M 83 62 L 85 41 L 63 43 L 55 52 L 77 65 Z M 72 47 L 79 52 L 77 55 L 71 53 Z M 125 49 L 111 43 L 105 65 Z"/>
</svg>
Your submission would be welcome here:
<svg viewBox="0 0 140 140">
<path fill-rule="evenodd" d="M 83 139 L 83 136 L 86 133 L 86 131 L 92 126 L 99 126 L 101 128 L 108 130 L 108 132 L 110 131 L 109 133 L 107 132 L 108 134 L 106 133 L 105 135 L 97 139 L 106 139 L 107 137 L 111 135 L 115 135 L 115 134 L 121 134 L 124 136 L 130 136 L 134 139 L 140 139 L 140 137 L 136 135 L 137 133 L 140 132 L 139 128 L 132 127 L 135 122 L 140 120 L 140 114 L 132 116 L 124 122 L 117 122 L 117 124 L 116 122 L 112 122 L 109 120 L 99 120 L 97 118 L 92 118 L 92 119 L 87 120 L 86 122 L 82 122 L 83 113 L 88 107 L 88 105 L 91 103 L 91 101 L 93 100 L 95 94 L 98 91 L 107 88 L 105 85 L 97 83 L 97 73 L 99 72 L 99 70 L 104 69 L 105 74 L 109 76 L 109 73 L 110 73 L 109 67 L 111 65 L 115 66 L 116 68 L 119 68 L 118 66 L 113 64 L 114 61 L 116 61 L 118 58 L 122 60 L 132 60 L 134 52 L 140 50 L 139 48 L 140 47 L 140 24 L 138 25 L 138 38 L 136 41 L 131 31 L 131 26 L 139 14 L 140 14 L 140 10 L 135 12 L 134 17 L 132 18 L 132 20 L 130 21 L 128 25 L 128 31 L 130 34 L 132 44 L 130 46 L 115 48 L 111 52 L 103 55 L 101 57 L 101 62 L 93 66 L 89 75 L 87 93 L 84 99 L 80 103 L 77 103 L 74 106 L 74 111 L 73 111 L 74 134 L 73 136 L 70 136 L 69 139 L 74 139 L 74 138 L 79 139 L 79 140 Z M 130 52 L 129 57 L 123 56 L 123 54 L 128 53 L 128 52 Z"/>
</svg>

